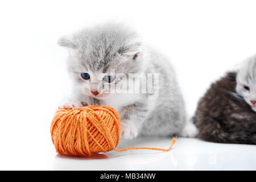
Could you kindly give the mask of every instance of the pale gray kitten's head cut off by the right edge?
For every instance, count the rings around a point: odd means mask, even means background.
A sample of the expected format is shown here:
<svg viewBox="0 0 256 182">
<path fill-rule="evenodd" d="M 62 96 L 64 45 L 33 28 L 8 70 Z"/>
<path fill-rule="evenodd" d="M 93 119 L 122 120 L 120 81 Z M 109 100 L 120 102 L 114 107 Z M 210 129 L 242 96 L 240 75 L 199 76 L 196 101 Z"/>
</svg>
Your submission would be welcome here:
<svg viewBox="0 0 256 182">
<path fill-rule="evenodd" d="M 256 111 L 256 56 L 246 60 L 238 71 L 236 91 Z"/>
</svg>

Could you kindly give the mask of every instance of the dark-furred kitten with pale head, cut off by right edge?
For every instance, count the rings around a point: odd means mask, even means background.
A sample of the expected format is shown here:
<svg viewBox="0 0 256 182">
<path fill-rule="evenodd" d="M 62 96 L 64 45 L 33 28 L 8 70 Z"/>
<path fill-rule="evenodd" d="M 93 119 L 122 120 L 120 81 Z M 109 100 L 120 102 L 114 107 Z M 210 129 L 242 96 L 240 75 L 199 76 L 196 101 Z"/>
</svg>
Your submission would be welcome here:
<svg viewBox="0 0 256 182">
<path fill-rule="evenodd" d="M 214 82 L 193 119 L 200 139 L 256 144 L 256 57 Z"/>
</svg>

